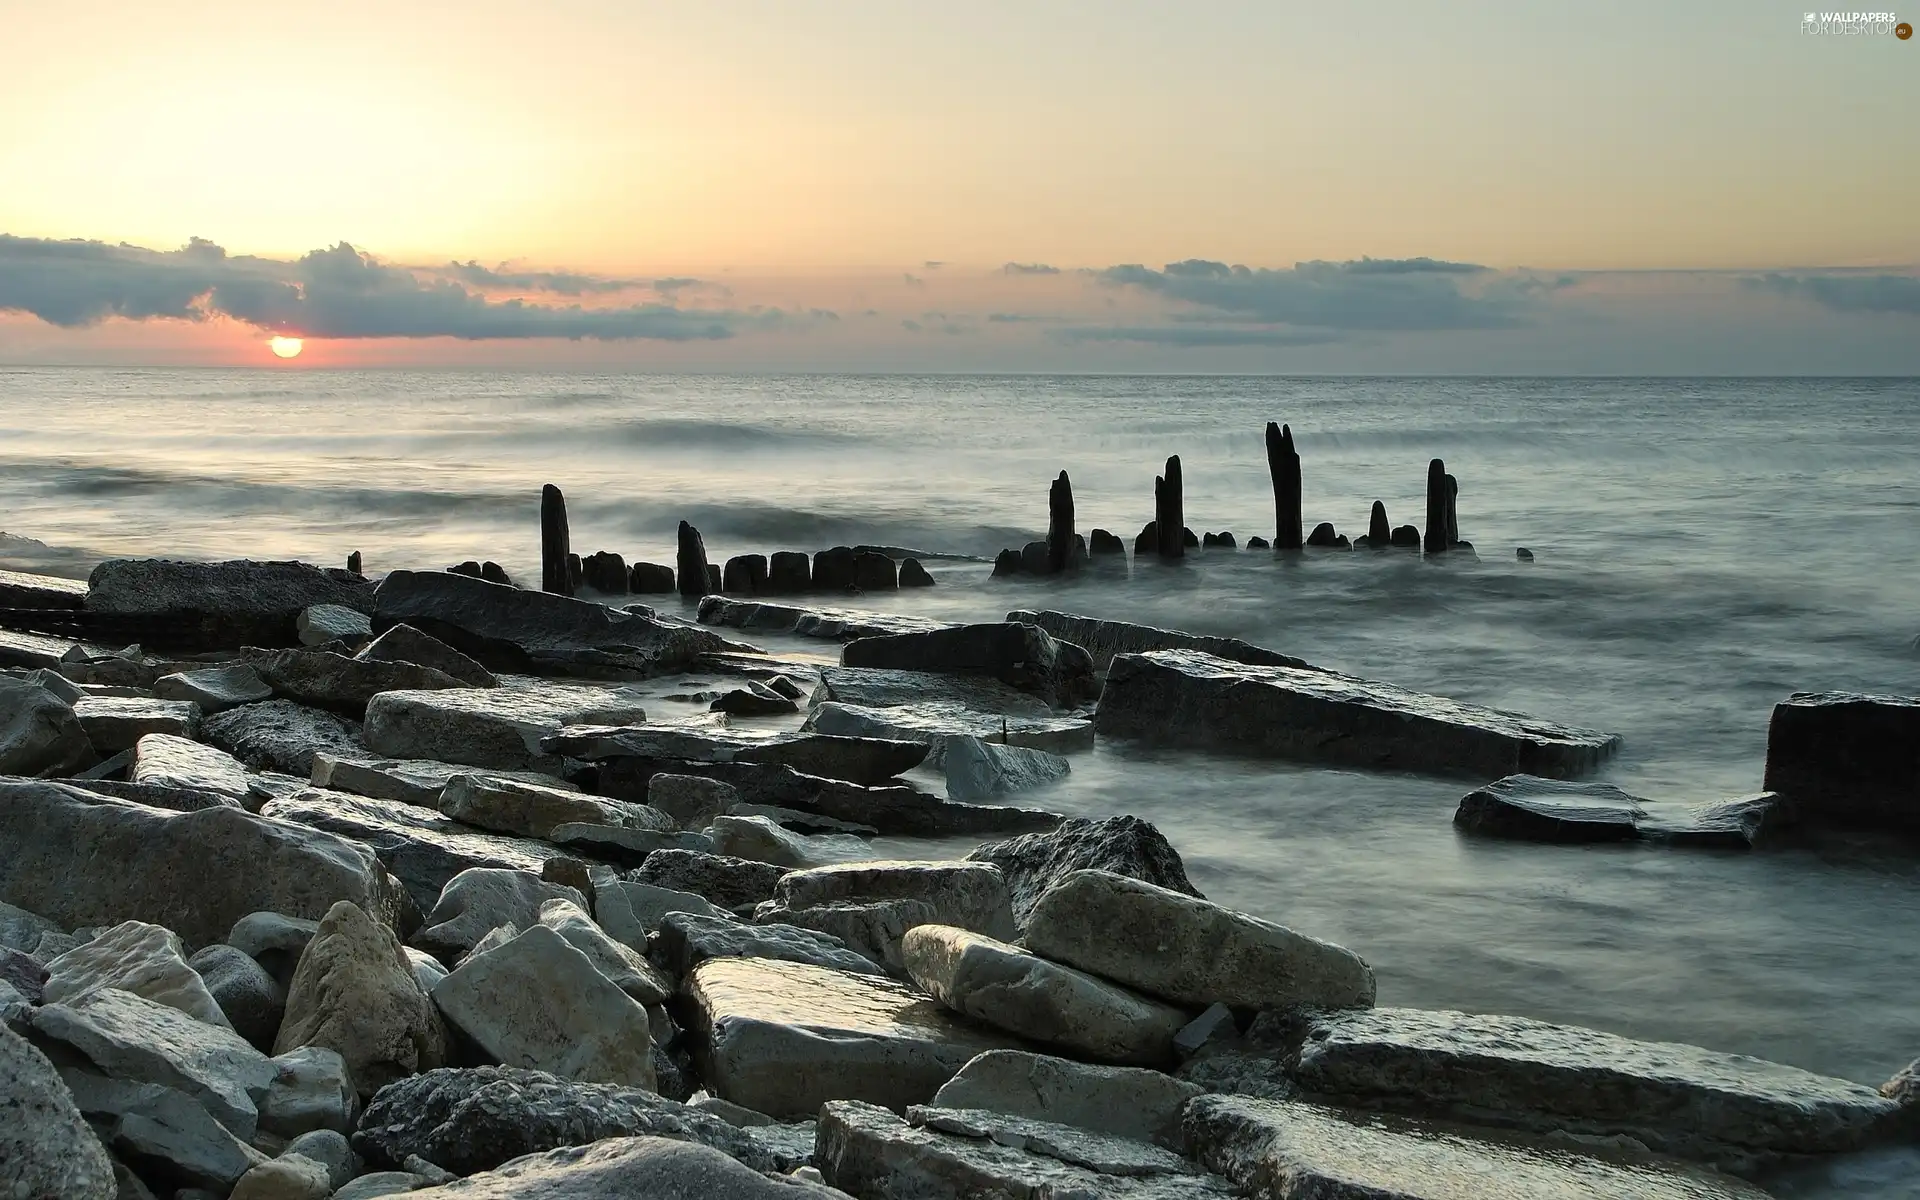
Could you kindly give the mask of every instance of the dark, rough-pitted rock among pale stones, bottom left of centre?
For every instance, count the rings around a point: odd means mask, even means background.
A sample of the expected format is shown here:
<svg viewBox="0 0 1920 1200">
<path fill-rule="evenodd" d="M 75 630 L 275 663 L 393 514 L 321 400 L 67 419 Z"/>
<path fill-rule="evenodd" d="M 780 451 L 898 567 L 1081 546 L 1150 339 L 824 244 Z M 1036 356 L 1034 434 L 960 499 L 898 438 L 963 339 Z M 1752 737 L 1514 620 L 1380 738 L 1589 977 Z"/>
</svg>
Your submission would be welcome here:
<svg viewBox="0 0 1920 1200">
<path fill-rule="evenodd" d="M 419 1156 L 470 1175 L 522 1154 L 620 1137 L 697 1142 L 774 1169 L 751 1137 L 697 1108 L 637 1087 L 574 1083 L 522 1068 L 442 1068 L 390 1083 L 361 1114 L 353 1150 L 374 1167 L 397 1169 Z"/>
</svg>

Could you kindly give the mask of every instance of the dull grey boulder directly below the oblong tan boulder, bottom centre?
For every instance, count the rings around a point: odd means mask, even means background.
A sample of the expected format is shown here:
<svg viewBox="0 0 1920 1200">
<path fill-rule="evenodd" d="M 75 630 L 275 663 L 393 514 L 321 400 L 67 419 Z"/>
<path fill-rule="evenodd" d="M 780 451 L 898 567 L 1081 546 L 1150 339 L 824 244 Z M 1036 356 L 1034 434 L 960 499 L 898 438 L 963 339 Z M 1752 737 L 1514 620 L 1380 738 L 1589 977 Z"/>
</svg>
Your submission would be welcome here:
<svg viewBox="0 0 1920 1200">
<path fill-rule="evenodd" d="M 1004 1112 L 1179 1150 L 1181 1106 L 1198 1094 L 1192 1083 L 1144 1068 L 989 1050 L 960 1068 L 933 1094 L 933 1104 Z"/>
</svg>

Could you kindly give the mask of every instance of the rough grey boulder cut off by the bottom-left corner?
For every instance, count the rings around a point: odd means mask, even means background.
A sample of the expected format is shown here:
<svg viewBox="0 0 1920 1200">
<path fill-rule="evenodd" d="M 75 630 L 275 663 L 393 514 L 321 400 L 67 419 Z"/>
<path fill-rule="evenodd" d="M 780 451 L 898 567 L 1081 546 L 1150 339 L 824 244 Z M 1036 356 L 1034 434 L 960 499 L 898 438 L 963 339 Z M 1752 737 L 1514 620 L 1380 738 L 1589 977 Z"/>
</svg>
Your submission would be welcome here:
<svg viewBox="0 0 1920 1200">
<path fill-rule="evenodd" d="M 46 1056 L 0 1023 L 0 1194 L 113 1200 L 113 1164 Z"/>
</svg>

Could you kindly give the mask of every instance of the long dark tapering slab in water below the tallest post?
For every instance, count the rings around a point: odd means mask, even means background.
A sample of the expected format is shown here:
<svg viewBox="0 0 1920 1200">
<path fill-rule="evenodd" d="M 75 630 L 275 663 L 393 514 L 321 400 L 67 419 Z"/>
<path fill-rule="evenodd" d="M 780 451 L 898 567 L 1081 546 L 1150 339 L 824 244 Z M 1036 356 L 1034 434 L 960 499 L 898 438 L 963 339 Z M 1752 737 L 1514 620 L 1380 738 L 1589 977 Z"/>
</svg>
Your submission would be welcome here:
<svg viewBox="0 0 1920 1200">
<path fill-rule="evenodd" d="M 1187 749 L 1480 778 L 1580 776 L 1620 745 L 1611 733 L 1392 684 L 1198 651 L 1114 659 L 1094 730 Z"/>
</svg>

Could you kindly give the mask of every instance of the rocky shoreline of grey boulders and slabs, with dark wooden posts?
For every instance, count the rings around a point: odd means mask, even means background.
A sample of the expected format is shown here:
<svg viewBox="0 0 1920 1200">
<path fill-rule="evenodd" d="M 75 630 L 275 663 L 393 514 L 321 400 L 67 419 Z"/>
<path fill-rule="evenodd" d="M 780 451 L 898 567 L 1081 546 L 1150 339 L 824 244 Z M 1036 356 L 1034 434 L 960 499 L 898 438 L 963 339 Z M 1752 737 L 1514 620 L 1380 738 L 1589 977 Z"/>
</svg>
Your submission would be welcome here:
<svg viewBox="0 0 1920 1200">
<path fill-rule="evenodd" d="M 1177 463 L 1160 499 L 1177 528 Z M 1603 732 L 1064 612 L 607 607 L 570 595 L 557 492 L 543 516 L 547 591 L 0 578 L 38 630 L 0 632 L 0 1196 L 1697 1200 L 1920 1133 L 1914 1068 L 1379 1008 L 1363 954 L 1210 902 L 1150 824 L 1023 799 L 1131 739 L 1471 778 L 1476 837 L 1907 835 L 1920 701 L 1795 695 L 1768 793 L 1653 822 L 1578 781 Z M 682 578 L 797 578 L 687 534 Z"/>
</svg>

